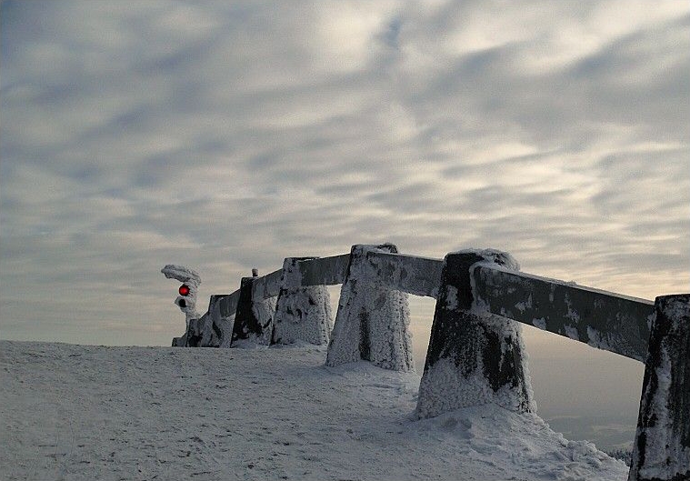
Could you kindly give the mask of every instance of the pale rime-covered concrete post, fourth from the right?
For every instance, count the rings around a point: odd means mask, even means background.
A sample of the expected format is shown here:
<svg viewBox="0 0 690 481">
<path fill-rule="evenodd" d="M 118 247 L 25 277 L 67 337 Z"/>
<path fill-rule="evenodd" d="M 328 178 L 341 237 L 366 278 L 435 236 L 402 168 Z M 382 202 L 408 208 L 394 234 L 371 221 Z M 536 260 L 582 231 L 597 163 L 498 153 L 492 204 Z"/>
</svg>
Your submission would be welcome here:
<svg viewBox="0 0 690 481">
<path fill-rule="evenodd" d="M 283 262 L 271 344 L 294 344 L 298 341 L 328 344 L 333 326 L 331 296 L 326 286 L 302 286 L 298 263 L 309 259 L 315 257 L 288 257 Z"/>
</svg>

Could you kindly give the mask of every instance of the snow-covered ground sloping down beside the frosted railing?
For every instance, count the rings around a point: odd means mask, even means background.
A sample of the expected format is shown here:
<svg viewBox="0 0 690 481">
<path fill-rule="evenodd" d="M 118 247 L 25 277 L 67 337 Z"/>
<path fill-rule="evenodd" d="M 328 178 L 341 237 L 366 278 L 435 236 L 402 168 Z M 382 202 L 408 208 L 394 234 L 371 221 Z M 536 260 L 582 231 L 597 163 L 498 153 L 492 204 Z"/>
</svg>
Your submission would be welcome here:
<svg viewBox="0 0 690 481">
<path fill-rule="evenodd" d="M 325 349 L 0 341 L 0 479 L 624 480 L 497 406 L 413 415 L 419 376 Z"/>
</svg>

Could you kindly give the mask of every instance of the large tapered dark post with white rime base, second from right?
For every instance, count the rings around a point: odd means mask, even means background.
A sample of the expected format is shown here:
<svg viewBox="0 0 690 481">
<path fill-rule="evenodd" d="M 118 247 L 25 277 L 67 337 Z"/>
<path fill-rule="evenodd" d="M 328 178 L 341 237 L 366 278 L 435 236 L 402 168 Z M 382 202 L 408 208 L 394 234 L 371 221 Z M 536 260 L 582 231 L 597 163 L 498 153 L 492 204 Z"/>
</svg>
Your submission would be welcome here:
<svg viewBox="0 0 690 481">
<path fill-rule="evenodd" d="M 445 256 L 419 386 L 420 418 L 488 403 L 517 412 L 536 410 L 521 327 L 505 317 L 473 310 L 470 273 L 477 263 L 519 268 L 512 256 L 495 250 Z"/>
</svg>

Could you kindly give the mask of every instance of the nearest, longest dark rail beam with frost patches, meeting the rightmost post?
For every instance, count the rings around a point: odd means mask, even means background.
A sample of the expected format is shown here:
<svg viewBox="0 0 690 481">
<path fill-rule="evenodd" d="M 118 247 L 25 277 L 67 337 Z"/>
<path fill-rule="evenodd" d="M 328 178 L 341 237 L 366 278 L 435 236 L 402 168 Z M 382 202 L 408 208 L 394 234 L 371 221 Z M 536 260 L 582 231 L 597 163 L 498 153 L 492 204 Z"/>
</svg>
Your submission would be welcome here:
<svg viewBox="0 0 690 481">
<path fill-rule="evenodd" d="M 476 266 L 475 308 L 645 361 L 654 303 L 545 277 Z"/>
</svg>

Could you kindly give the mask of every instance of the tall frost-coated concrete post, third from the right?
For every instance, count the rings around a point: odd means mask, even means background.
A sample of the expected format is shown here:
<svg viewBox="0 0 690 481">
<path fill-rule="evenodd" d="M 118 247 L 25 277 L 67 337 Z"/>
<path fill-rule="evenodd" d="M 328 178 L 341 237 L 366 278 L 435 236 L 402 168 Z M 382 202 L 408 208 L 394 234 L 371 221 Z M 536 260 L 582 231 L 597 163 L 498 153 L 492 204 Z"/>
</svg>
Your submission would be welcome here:
<svg viewBox="0 0 690 481">
<path fill-rule="evenodd" d="M 391 244 L 352 247 L 326 365 L 364 359 L 385 369 L 413 371 L 407 295 L 389 288 L 383 273 L 371 275 L 369 252 L 397 253 L 397 248 Z"/>
</svg>

